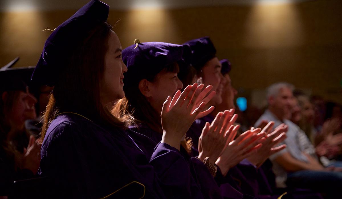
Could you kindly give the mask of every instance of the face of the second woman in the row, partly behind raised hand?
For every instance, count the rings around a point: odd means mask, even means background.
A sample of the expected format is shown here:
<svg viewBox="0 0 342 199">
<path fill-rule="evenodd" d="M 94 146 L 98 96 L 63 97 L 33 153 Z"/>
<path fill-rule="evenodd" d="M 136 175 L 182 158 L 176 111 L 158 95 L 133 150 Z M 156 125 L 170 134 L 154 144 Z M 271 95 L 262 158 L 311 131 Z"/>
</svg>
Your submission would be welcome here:
<svg viewBox="0 0 342 199">
<path fill-rule="evenodd" d="M 173 97 L 177 90 L 183 88 L 183 83 L 178 79 L 177 72 L 168 72 L 164 69 L 149 83 L 148 102 L 159 114 L 166 98 Z"/>
</svg>

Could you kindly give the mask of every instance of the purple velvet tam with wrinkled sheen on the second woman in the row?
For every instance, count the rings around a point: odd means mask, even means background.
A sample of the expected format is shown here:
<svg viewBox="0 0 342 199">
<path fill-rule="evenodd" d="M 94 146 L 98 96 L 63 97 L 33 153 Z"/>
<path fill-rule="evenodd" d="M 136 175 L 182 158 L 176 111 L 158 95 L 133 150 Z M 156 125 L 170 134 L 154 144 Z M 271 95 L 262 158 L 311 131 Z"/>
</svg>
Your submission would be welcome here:
<svg viewBox="0 0 342 199">
<path fill-rule="evenodd" d="M 152 81 L 167 65 L 182 60 L 183 45 L 164 42 L 144 42 L 122 50 L 122 60 L 128 71 L 124 74 L 124 88 L 142 79 Z"/>
</svg>

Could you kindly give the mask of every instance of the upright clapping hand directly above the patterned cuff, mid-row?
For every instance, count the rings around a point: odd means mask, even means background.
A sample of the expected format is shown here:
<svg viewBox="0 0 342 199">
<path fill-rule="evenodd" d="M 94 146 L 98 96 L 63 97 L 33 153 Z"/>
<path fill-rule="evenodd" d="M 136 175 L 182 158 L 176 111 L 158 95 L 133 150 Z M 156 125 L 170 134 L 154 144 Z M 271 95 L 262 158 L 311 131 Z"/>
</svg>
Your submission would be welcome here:
<svg viewBox="0 0 342 199">
<path fill-rule="evenodd" d="M 234 128 L 231 125 L 237 119 L 237 115 L 232 118 L 233 114 L 234 109 L 219 112 L 211 125 L 209 122 L 205 124 L 198 140 L 198 158 L 200 160 L 203 161 L 209 157 L 209 162 L 214 164 L 221 155 L 223 148 L 234 139 L 239 126 Z"/>
</svg>

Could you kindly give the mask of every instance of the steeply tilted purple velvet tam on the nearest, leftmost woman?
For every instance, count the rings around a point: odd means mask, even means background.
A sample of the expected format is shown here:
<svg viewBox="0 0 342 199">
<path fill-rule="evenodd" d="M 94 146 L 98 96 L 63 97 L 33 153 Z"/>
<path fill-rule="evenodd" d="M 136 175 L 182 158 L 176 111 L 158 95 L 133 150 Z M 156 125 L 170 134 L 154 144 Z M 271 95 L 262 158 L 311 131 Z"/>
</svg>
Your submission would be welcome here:
<svg viewBox="0 0 342 199">
<path fill-rule="evenodd" d="M 54 86 L 73 51 L 82 45 L 81 41 L 91 37 L 96 26 L 107 21 L 108 13 L 107 4 L 92 0 L 59 25 L 46 40 L 31 79 Z"/>
</svg>

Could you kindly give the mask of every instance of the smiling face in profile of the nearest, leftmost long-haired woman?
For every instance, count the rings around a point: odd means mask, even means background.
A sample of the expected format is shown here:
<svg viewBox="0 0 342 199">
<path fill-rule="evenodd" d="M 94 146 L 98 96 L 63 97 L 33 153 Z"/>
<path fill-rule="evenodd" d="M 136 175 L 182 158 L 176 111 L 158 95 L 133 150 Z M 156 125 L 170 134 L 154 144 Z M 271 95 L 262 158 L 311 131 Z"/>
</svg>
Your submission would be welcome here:
<svg viewBox="0 0 342 199">
<path fill-rule="evenodd" d="M 105 55 L 105 71 L 101 82 L 101 98 L 103 104 L 108 104 L 124 97 L 123 73 L 127 71 L 122 62 L 122 47 L 118 36 L 111 31 L 108 38 L 108 51 Z"/>
</svg>

